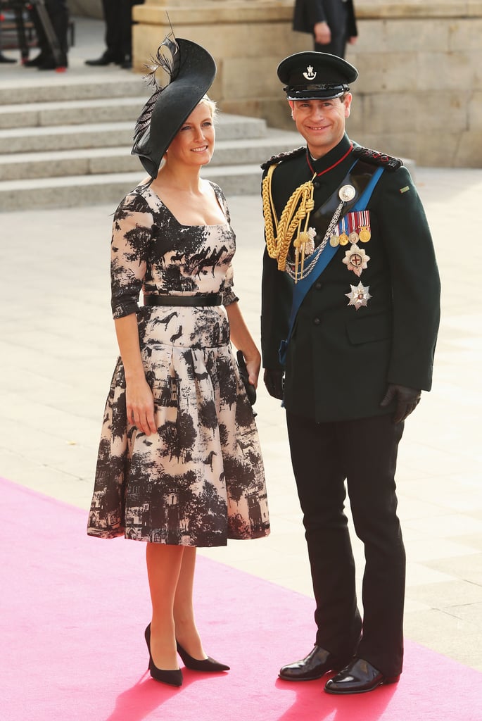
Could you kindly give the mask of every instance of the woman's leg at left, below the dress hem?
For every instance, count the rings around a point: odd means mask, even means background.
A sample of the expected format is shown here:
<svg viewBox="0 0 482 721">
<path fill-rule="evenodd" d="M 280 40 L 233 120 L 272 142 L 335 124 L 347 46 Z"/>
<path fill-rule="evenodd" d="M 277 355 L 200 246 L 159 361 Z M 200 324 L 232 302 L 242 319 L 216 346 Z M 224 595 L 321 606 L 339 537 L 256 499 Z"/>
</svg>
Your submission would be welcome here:
<svg viewBox="0 0 482 721">
<path fill-rule="evenodd" d="M 164 671 L 179 668 L 174 629 L 174 598 L 181 575 L 184 546 L 148 543 L 147 575 L 152 602 L 151 656 Z"/>
</svg>

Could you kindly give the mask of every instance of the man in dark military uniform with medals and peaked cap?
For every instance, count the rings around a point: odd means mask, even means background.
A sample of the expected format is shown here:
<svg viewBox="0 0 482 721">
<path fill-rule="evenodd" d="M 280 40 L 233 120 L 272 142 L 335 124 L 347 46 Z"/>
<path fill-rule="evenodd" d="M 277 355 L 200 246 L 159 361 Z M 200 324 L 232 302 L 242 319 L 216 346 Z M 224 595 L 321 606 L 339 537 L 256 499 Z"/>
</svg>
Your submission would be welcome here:
<svg viewBox="0 0 482 721">
<path fill-rule="evenodd" d="M 338 671 L 325 690 L 352 694 L 402 670 L 394 474 L 403 422 L 432 384 L 439 275 L 409 172 L 345 132 L 356 68 L 307 52 L 277 73 L 306 146 L 264 164 L 264 381 L 286 409 L 318 628 L 313 650 L 280 677 Z M 363 620 L 345 480 L 365 544 Z"/>
</svg>

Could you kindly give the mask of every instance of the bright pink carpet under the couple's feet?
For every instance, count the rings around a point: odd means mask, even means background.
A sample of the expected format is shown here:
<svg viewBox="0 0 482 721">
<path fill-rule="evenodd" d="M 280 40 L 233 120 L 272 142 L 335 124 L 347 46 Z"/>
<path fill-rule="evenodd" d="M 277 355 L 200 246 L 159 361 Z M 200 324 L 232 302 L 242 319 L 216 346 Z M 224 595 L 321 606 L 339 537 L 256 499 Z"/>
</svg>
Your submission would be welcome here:
<svg viewBox="0 0 482 721">
<path fill-rule="evenodd" d="M 401 682 L 371 694 L 280 681 L 311 647 L 313 602 L 202 557 L 197 622 L 231 671 L 158 684 L 144 544 L 88 538 L 86 513 L 4 479 L 0 492 L 1 721 L 481 721 L 482 674 L 410 642 Z"/>
</svg>

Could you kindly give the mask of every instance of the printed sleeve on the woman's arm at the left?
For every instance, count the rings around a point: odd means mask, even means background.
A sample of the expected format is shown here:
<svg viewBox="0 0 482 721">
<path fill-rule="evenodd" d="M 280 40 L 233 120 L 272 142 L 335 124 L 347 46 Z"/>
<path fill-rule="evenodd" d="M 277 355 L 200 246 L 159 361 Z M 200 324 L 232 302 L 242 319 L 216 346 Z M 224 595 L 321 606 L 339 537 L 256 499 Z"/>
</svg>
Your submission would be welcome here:
<svg viewBox="0 0 482 721">
<path fill-rule="evenodd" d="M 111 306 L 114 319 L 137 313 L 148 262 L 152 213 L 138 193 L 127 195 L 115 211 L 111 242 Z"/>
</svg>

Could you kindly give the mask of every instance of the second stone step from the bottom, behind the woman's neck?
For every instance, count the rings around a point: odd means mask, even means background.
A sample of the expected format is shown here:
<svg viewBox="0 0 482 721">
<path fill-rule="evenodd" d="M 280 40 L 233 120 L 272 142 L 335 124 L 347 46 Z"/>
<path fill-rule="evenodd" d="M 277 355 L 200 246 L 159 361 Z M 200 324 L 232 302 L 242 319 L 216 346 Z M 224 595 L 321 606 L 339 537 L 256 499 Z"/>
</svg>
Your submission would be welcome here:
<svg viewBox="0 0 482 721">
<path fill-rule="evenodd" d="M 299 144 L 296 133 L 283 131 L 268 131 L 264 138 L 218 140 L 210 167 L 238 164 L 239 159 L 259 166 L 270 156 L 290 151 Z M 128 172 L 143 172 L 138 157 L 130 154 L 130 146 L 0 156 L 2 181 Z"/>
</svg>

